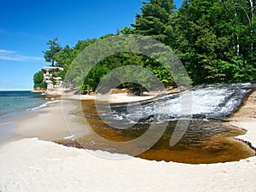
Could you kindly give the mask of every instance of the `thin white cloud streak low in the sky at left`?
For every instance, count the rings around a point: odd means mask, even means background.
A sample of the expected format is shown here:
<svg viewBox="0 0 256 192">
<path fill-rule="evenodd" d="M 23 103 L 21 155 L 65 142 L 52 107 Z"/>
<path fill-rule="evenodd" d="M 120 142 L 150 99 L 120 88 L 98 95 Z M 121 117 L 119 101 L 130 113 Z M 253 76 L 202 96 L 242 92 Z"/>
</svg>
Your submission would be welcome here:
<svg viewBox="0 0 256 192">
<path fill-rule="evenodd" d="M 16 51 L 0 49 L 0 60 L 7 61 L 44 61 L 43 57 L 20 55 Z"/>
</svg>

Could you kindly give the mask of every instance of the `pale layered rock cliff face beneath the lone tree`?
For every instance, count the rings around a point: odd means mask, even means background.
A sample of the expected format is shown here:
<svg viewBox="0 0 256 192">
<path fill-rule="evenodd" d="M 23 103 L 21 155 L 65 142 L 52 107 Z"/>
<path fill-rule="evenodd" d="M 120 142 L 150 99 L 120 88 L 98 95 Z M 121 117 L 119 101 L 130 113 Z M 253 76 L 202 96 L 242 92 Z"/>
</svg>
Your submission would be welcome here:
<svg viewBox="0 0 256 192">
<path fill-rule="evenodd" d="M 61 95 L 62 79 L 61 77 L 54 77 L 55 73 L 63 71 L 61 67 L 43 67 L 44 82 L 47 84 L 46 94 Z"/>
</svg>

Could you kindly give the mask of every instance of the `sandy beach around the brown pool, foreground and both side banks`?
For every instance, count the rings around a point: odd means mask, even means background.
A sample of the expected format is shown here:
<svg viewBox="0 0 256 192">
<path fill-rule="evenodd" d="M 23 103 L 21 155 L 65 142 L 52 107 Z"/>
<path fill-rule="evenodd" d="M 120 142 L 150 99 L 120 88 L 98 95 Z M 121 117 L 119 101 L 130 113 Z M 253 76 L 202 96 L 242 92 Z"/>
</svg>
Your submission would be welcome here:
<svg viewBox="0 0 256 192">
<path fill-rule="evenodd" d="M 256 191 L 256 156 L 236 162 L 188 165 L 134 157 L 111 160 L 89 150 L 52 143 L 71 136 L 61 110 L 61 102 L 56 102 L 37 116 L 17 122 L 18 141 L 0 146 L 1 192 Z M 254 147 L 255 115 L 253 91 L 225 123 L 247 130 L 239 138 Z"/>
</svg>

